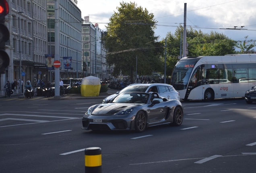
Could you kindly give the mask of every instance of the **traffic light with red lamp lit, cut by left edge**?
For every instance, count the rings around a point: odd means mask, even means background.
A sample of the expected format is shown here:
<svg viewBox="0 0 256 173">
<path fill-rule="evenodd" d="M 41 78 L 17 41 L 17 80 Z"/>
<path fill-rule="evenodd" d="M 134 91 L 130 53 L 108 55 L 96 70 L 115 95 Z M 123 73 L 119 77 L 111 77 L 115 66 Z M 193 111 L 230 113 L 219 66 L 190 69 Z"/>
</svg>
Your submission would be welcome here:
<svg viewBox="0 0 256 173">
<path fill-rule="evenodd" d="M 0 74 L 5 72 L 5 68 L 9 66 L 10 58 L 5 52 L 5 42 L 9 40 L 10 33 L 5 26 L 5 16 L 9 12 L 8 2 L 0 0 Z"/>
</svg>

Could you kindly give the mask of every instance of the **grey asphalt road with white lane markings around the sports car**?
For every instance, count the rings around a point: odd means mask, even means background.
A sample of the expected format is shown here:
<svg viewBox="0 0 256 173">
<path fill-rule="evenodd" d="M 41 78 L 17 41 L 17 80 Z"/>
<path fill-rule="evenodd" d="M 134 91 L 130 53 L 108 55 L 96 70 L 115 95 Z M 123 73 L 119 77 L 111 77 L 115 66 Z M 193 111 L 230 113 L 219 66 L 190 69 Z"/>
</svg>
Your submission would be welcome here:
<svg viewBox="0 0 256 173">
<path fill-rule="evenodd" d="M 84 149 L 100 147 L 103 173 L 255 173 L 256 103 L 182 102 L 180 127 L 143 133 L 85 131 L 101 99 L 0 99 L 1 173 L 82 173 Z"/>
</svg>

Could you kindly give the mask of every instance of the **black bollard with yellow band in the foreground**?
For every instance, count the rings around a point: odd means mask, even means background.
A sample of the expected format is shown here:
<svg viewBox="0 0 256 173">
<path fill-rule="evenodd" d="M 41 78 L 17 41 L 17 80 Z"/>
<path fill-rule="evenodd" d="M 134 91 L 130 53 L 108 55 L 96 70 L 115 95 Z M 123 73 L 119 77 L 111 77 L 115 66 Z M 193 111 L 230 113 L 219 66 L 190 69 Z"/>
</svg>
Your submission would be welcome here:
<svg viewBox="0 0 256 173">
<path fill-rule="evenodd" d="M 101 173 L 101 148 L 85 149 L 85 173 Z"/>
</svg>

